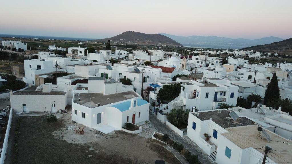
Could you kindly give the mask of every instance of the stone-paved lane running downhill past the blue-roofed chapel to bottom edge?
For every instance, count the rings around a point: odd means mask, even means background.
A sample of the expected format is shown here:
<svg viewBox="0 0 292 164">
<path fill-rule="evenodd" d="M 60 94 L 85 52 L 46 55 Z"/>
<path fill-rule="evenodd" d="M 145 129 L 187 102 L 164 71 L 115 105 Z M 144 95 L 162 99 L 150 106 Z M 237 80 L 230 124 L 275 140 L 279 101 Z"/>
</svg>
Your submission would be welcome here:
<svg viewBox="0 0 292 164">
<path fill-rule="evenodd" d="M 192 154 L 197 154 L 199 160 L 202 164 L 210 164 L 215 163 L 213 159 L 209 155 L 207 155 L 197 144 L 195 144 L 189 137 L 183 136 L 180 137 L 177 133 L 175 133 L 173 130 L 168 128 L 164 123 L 159 121 L 154 113 L 150 111 L 149 114 L 149 129 L 145 129 L 143 127 L 142 133 L 138 134 L 142 137 L 151 138 L 153 135 L 153 132 L 159 132 L 164 134 L 168 134 L 169 138 L 173 139 L 174 141 L 178 143 L 182 143 L 184 145 L 184 148 L 190 151 Z M 143 126 L 143 125 L 142 125 Z"/>
</svg>

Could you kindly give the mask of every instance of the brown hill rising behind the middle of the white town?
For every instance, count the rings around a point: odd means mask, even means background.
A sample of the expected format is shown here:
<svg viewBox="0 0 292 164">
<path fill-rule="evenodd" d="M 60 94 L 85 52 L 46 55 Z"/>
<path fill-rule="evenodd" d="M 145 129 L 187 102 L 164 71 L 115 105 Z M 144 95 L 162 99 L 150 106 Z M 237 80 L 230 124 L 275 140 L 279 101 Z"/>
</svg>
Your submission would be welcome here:
<svg viewBox="0 0 292 164">
<path fill-rule="evenodd" d="M 143 34 L 141 32 L 127 31 L 117 36 L 105 39 L 98 39 L 98 41 L 121 42 L 121 43 L 137 43 L 137 44 L 161 44 L 161 45 L 172 45 L 182 46 L 180 43 L 170 39 L 167 36 L 161 34 Z"/>
</svg>

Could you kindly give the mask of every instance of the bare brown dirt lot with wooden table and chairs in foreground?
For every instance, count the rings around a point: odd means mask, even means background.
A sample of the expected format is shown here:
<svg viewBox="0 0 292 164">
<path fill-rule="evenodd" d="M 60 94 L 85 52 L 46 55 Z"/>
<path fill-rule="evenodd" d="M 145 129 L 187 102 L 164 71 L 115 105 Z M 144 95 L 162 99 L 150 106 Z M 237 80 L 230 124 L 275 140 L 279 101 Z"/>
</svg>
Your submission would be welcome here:
<svg viewBox="0 0 292 164">
<path fill-rule="evenodd" d="M 155 160 L 180 163 L 163 145 L 152 140 L 114 131 L 103 134 L 70 121 L 67 113 L 51 125 L 44 116 L 13 117 L 5 163 L 139 163 L 151 164 Z M 19 123 L 18 153 L 15 157 L 15 127 Z M 84 127 L 84 135 L 74 128 Z M 17 162 L 14 162 L 16 159 Z"/>
</svg>

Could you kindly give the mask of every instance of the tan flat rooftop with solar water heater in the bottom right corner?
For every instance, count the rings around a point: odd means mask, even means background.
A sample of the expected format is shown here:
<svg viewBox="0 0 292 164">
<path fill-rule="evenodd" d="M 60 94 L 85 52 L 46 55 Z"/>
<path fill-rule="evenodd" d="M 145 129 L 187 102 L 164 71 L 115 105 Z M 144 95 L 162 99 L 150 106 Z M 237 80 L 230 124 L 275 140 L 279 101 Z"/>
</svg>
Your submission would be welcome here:
<svg viewBox="0 0 292 164">
<path fill-rule="evenodd" d="M 287 141 L 279 135 L 272 133 L 264 129 L 270 136 L 270 142 L 268 142 L 263 134 L 262 137 L 257 137 L 258 135 L 258 125 L 247 125 L 227 128 L 228 132 L 221 133 L 224 137 L 229 139 L 231 142 L 239 146 L 241 149 L 246 149 L 249 147 L 255 148 L 260 153 L 264 153 L 265 145 L 272 147 L 273 151 L 268 155 L 276 163 L 288 163 L 292 164 L 292 156 L 289 152 L 281 152 L 276 150 L 288 151 L 291 150 L 292 141 Z M 284 143 L 283 143 L 284 142 Z M 260 149 L 261 148 L 261 149 Z M 249 150 L 248 150 L 249 151 Z"/>
</svg>

